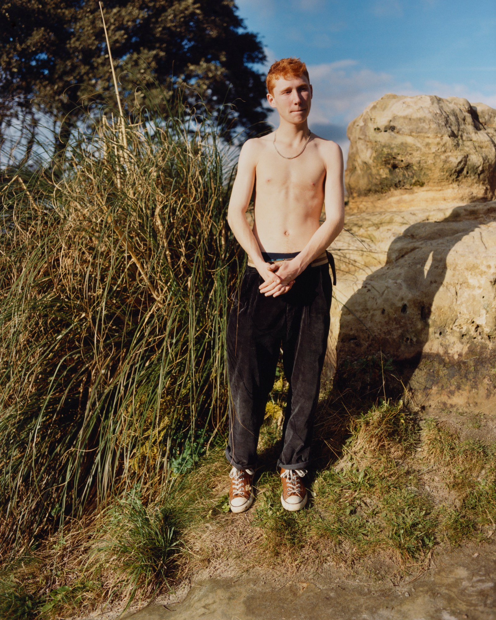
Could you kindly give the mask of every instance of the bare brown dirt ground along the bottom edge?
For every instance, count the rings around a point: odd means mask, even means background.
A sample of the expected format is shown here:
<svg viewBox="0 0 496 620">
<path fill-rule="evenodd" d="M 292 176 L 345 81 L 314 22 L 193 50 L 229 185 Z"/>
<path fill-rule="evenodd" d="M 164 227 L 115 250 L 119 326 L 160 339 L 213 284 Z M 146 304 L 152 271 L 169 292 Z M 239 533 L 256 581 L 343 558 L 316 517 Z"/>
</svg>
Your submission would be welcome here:
<svg viewBox="0 0 496 620">
<path fill-rule="evenodd" d="M 118 612 L 85 620 L 111 620 Z M 493 620 L 496 619 L 496 546 L 440 549 L 427 570 L 394 582 L 325 567 L 310 575 L 255 570 L 199 578 L 173 596 L 123 616 L 129 620 Z"/>
</svg>

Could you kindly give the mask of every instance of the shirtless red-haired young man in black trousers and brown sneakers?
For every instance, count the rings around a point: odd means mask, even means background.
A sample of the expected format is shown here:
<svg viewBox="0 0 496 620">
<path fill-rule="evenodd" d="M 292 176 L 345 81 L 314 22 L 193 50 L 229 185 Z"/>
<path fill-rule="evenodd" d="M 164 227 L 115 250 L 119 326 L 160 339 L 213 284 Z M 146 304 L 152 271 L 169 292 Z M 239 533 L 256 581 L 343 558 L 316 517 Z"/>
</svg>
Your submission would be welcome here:
<svg viewBox="0 0 496 620">
<path fill-rule="evenodd" d="M 249 139 L 239 155 L 228 223 L 248 255 L 228 322 L 229 505 L 253 502 L 259 430 L 280 348 L 290 385 L 278 460 L 286 510 L 307 501 L 314 411 L 324 364 L 332 282 L 325 250 L 343 228 L 343 156 L 308 128 L 312 86 L 304 63 L 285 58 L 267 75 L 276 131 Z M 246 211 L 254 193 L 255 224 Z M 325 222 L 319 225 L 322 205 Z M 281 260 L 283 259 L 283 260 Z M 333 265 L 334 267 L 334 265 Z"/>
</svg>

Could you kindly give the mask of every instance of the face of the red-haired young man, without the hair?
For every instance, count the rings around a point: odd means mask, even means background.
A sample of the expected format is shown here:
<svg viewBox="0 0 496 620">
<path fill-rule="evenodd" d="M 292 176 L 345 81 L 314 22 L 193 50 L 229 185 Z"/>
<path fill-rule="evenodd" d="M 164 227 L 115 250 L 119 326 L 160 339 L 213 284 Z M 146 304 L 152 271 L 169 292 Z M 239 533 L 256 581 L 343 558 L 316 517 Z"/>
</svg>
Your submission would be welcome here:
<svg viewBox="0 0 496 620">
<path fill-rule="evenodd" d="M 301 78 L 278 78 L 273 94 L 267 94 L 270 107 L 276 108 L 281 118 L 298 125 L 309 115 L 312 102 L 312 86 L 304 76 Z"/>
</svg>

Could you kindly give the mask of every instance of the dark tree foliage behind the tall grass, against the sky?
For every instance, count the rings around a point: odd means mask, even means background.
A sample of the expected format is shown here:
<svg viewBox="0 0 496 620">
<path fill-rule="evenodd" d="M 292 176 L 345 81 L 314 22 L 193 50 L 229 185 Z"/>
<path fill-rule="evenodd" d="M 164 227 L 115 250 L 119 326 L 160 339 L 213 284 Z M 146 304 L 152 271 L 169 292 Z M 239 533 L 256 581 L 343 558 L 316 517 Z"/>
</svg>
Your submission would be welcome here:
<svg viewBox="0 0 496 620">
<path fill-rule="evenodd" d="M 210 112 L 234 104 L 231 128 L 261 123 L 265 60 L 233 0 L 105 0 L 105 20 L 126 112 L 161 112 L 177 87 Z M 82 107 L 115 97 L 97 0 L 6 0 L 0 7 L 2 116 L 16 99 L 69 125 Z"/>
</svg>

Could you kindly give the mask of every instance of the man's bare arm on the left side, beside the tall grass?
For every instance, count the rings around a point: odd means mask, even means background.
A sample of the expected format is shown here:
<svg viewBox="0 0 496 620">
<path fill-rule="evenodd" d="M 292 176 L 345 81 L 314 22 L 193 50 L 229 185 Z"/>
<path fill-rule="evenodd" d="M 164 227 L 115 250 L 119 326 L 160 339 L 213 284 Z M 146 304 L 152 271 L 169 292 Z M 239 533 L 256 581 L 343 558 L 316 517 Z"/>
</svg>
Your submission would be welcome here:
<svg viewBox="0 0 496 620">
<path fill-rule="evenodd" d="M 280 285 L 280 277 L 273 273 L 277 269 L 276 265 L 266 263 L 262 258 L 259 244 L 246 221 L 246 211 L 250 204 L 250 198 L 255 183 L 255 169 L 257 167 L 257 144 L 254 139 L 247 140 L 243 144 L 239 161 L 237 164 L 236 179 L 232 185 L 231 200 L 229 200 L 228 208 L 228 224 L 236 237 L 239 245 L 245 250 L 252 259 L 257 271 L 262 276 L 265 283 L 273 283 Z M 279 294 L 290 290 L 293 281 L 283 287 L 278 288 Z"/>
</svg>

